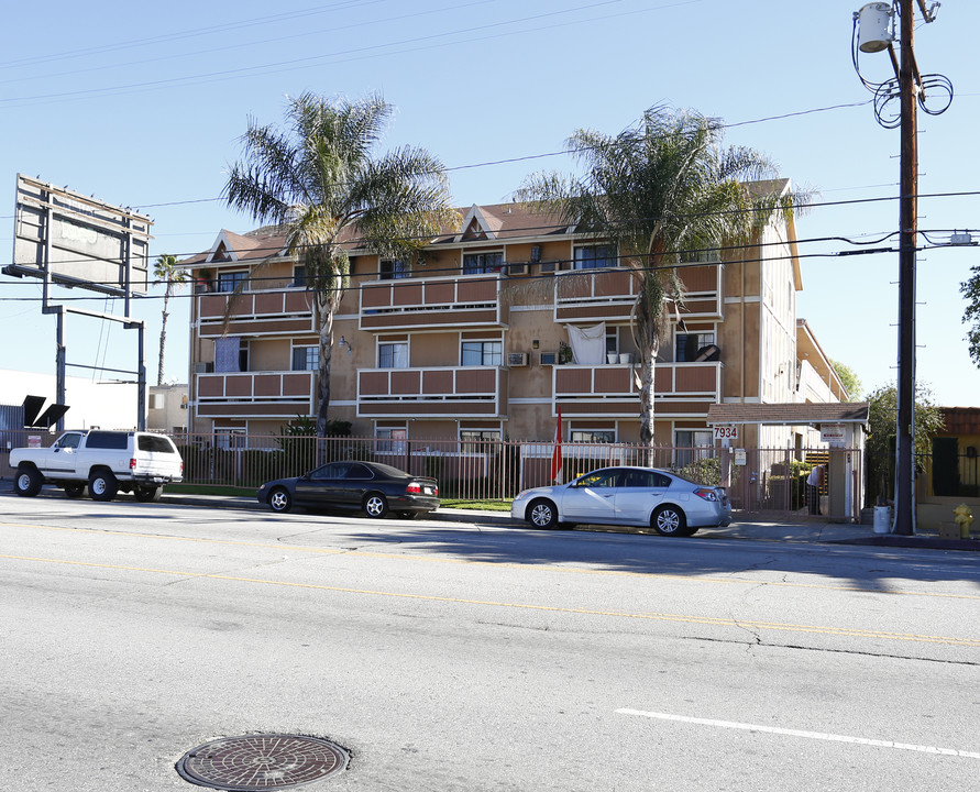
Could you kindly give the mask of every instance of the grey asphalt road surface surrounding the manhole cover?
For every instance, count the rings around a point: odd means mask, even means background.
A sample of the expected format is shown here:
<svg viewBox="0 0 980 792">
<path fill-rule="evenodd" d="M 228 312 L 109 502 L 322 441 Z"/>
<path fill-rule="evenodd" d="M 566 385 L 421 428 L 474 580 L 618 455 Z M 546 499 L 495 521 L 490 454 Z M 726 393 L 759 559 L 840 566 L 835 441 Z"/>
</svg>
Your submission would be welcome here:
<svg viewBox="0 0 980 792">
<path fill-rule="evenodd" d="M 973 790 L 975 553 L 0 495 L 0 789 Z"/>
</svg>

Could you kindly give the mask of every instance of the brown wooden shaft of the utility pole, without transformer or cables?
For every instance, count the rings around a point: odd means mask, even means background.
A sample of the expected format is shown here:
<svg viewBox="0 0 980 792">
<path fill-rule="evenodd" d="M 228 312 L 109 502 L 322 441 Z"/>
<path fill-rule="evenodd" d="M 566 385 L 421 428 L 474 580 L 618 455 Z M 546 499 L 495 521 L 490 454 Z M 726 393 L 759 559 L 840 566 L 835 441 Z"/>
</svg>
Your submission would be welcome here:
<svg viewBox="0 0 980 792">
<path fill-rule="evenodd" d="M 901 157 L 899 169 L 899 416 L 895 421 L 895 534 L 915 534 L 915 246 L 918 231 L 918 134 L 913 0 L 900 0 Z"/>
</svg>

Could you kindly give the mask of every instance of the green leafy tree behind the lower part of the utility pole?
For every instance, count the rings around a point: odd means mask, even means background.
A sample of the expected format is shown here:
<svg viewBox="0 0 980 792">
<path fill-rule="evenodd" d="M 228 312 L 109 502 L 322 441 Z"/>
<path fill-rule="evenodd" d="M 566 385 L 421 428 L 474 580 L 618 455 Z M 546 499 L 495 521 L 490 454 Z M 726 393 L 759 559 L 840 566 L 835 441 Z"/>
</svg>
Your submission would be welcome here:
<svg viewBox="0 0 980 792">
<path fill-rule="evenodd" d="M 899 415 L 899 392 L 894 385 L 883 385 L 868 395 L 868 502 L 894 492 L 895 420 Z M 915 386 L 915 455 L 932 452 L 933 437 L 945 426 L 943 410 L 933 402 L 928 386 Z M 918 470 L 918 465 L 916 465 Z"/>
</svg>

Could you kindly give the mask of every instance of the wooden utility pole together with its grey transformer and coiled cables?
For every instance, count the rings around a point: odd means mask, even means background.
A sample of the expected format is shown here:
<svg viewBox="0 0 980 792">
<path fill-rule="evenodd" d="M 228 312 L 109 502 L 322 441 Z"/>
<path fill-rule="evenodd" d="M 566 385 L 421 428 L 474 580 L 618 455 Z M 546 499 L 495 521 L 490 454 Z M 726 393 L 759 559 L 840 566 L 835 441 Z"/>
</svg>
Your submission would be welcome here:
<svg viewBox="0 0 980 792">
<path fill-rule="evenodd" d="M 939 3 L 918 8 L 926 22 L 936 19 Z M 900 21 L 901 62 L 895 57 L 895 18 Z M 854 15 L 855 70 L 874 95 L 874 114 L 885 129 L 901 129 L 899 187 L 899 415 L 895 420 L 895 534 L 915 534 L 915 246 L 918 231 L 918 135 L 916 109 L 931 116 L 946 111 L 953 101 L 953 84 L 942 75 L 921 75 L 915 64 L 913 0 L 865 4 Z M 895 77 L 869 82 L 858 65 L 859 53 L 888 51 Z M 942 107 L 929 107 L 928 97 L 945 94 Z M 899 99 L 899 113 L 891 109 Z M 890 114 L 891 113 L 891 114 Z"/>
</svg>

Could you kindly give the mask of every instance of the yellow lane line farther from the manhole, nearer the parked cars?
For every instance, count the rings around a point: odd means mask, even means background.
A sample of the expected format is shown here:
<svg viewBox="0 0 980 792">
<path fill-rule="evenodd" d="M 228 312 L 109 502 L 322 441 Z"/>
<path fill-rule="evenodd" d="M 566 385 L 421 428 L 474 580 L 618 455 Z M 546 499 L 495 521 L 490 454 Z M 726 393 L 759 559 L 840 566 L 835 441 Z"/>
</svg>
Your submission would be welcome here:
<svg viewBox="0 0 980 792">
<path fill-rule="evenodd" d="M 421 557 L 421 556 L 409 556 L 406 553 L 385 553 L 385 552 L 376 552 L 371 550 L 346 550 L 343 548 L 317 548 L 317 547 L 306 547 L 302 544 L 285 544 L 280 542 L 269 543 L 269 542 L 249 542 L 249 541 L 239 541 L 232 539 L 203 539 L 200 537 L 180 537 L 180 536 L 165 536 L 162 534 L 141 534 L 137 531 L 120 531 L 120 530 L 110 530 L 108 528 L 66 528 L 63 526 L 46 526 L 46 525 L 36 525 L 30 522 L 0 522 L 0 526 L 5 528 L 33 528 L 40 530 L 49 530 L 49 531 L 74 531 L 77 534 L 93 534 L 93 535 L 109 535 L 109 536 L 121 536 L 121 537 L 132 537 L 135 539 L 156 539 L 162 541 L 178 541 L 178 542 L 192 542 L 200 544 L 220 544 L 225 547 L 244 547 L 244 548 L 255 548 L 255 549 L 268 549 L 275 550 L 277 552 L 290 551 L 298 553 L 309 553 L 311 556 L 351 556 L 353 558 L 377 558 L 377 559 L 396 559 L 403 561 L 412 561 L 418 563 L 434 563 L 434 564 L 450 564 L 450 565 L 459 565 L 459 566 L 492 566 L 492 568 L 500 568 L 500 569 L 533 569 L 536 572 L 561 572 L 565 574 L 581 574 L 581 575 L 609 575 L 616 578 L 649 578 L 656 580 L 671 580 L 678 582 L 685 583 L 717 583 L 722 585 L 749 585 L 752 587 L 758 586 L 773 586 L 773 587 L 782 587 L 782 588 L 814 588 L 819 591 L 840 591 L 840 592 L 854 592 L 858 594 L 882 594 L 885 596 L 922 596 L 922 597 L 934 597 L 940 600 L 978 600 L 980 601 L 980 595 L 976 594 L 945 594 L 945 593 L 932 593 L 932 592 L 917 592 L 917 591 L 906 591 L 906 590 L 893 590 L 893 591 L 884 591 L 882 588 L 862 588 L 860 586 L 848 586 L 848 585 L 828 585 L 825 583 L 786 583 L 785 581 L 760 581 L 760 580 L 751 580 L 745 578 L 717 578 L 711 575 L 685 575 L 685 574 L 672 574 L 668 572 L 628 572 L 625 570 L 593 570 L 593 569 L 582 569 L 575 566 L 558 566 L 554 564 L 531 564 L 531 563 L 517 563 L 513 561 L 471 561 L 465 559 L 447 559 L 447 558 L 430 558 L 430 557 Z M 804 573 L 812 574 L 812 573 Z"/>
</svg>

